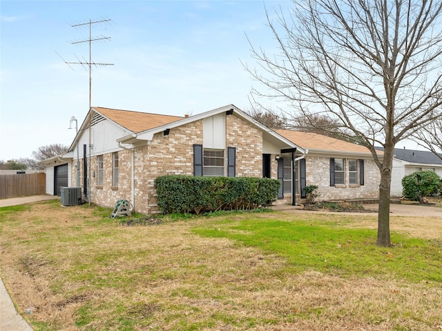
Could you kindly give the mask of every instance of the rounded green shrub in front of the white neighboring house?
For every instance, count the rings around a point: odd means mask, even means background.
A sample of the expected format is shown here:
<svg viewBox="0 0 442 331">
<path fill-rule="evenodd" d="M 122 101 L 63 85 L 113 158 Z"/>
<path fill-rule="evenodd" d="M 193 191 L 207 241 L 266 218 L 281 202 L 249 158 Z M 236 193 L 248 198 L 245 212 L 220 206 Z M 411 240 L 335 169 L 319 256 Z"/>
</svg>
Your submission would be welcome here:
<svg viewBox="0 0 442 331">
<path fill-rule="evenodd" d="M 430 170 L 414 172 L 402 179 L 403 197 L 424 202 L 425 197 L 440 194 L 441 178 Z"/>
</svg>

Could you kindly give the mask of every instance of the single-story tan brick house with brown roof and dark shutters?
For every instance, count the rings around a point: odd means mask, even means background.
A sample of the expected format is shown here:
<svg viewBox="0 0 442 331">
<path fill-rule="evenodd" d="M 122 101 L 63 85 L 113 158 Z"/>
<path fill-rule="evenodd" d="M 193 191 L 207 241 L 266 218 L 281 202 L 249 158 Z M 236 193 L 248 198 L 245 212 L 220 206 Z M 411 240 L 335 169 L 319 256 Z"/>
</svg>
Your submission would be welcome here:
<svg viewBox="0 0 442 331">
<path fill-rule="evenodd" d="M 127 199 L 145 214 L 157 212 L 154 181 L 165 174 L 279 179 L 278 203 L 302 201 L 306 185 L 320 199 L 376 199 L 380 179 L 367 148 L 274 131 L 233 105 L 184 117 L 93 107 L 68 153 L 41 165 L 48 194 L 59 192 L 60 170 L 69 186 L 79 173 L 86 201 Z"/>
</svg>

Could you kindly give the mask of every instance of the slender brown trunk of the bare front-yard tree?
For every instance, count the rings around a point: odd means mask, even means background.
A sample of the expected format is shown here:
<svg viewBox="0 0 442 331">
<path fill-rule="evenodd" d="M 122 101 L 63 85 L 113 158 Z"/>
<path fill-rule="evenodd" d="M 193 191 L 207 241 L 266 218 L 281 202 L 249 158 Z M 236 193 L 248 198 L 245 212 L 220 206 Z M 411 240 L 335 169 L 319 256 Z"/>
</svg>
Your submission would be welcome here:
<svg viewBox="0 0 442 331">
<path fill-rule="evenodd" d="M 376 245 L 390 247 L 390 186 L 392 183 L 394 145 L 385 146 L 379 185 L 378 239 Z"/>
</svg>

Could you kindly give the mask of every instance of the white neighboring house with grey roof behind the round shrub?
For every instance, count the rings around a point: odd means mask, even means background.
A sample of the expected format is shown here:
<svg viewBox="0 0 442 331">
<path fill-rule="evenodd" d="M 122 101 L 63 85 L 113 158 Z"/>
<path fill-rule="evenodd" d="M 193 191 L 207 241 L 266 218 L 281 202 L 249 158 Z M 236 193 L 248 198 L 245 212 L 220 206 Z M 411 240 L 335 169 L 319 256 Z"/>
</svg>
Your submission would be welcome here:
<svg viewBox="0 0 442 331">
<path fill-rule="evenodd" d="M 376 150 L 383 150 L 383 148 L 376 147 Z M 434 171 L 439 177 L 442 177 L 442 159 L 427 150 L 394 148 L 392 186 L 390 188 L 392 197 L 402 197 L 403 177 L 422 170 Z"/>
</svg>

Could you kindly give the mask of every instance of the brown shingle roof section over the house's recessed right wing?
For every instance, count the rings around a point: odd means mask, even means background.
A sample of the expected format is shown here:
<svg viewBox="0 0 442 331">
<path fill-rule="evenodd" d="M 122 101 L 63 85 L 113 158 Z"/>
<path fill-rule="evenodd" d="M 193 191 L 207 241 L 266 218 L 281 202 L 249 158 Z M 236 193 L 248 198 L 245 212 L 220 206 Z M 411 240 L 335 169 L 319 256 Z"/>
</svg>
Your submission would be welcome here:
<svg viewBox="0 0 442 331">
<path fill-rule="evenodd" d="M 293 130 L 276 130 L 276 132 L 310 152 L 350 152 L 371 154 L 369 149 L 365 146 L 327 137 L 323 134 Z"/>
</svg>

